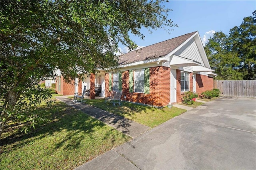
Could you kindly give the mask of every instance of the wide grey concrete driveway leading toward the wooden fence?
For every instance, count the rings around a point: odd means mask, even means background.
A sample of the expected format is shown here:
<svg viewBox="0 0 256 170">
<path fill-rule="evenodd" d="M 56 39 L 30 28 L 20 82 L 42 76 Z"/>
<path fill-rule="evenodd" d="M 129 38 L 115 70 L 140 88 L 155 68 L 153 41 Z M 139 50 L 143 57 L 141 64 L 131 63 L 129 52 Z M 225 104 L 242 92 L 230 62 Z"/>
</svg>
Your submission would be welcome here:
<svg viewBox="0 0 256 170">
<path fill-rule="evenodd" d="M 208 102 L 80 168 L 255 170 L 256 100 Z"/>
</svg>

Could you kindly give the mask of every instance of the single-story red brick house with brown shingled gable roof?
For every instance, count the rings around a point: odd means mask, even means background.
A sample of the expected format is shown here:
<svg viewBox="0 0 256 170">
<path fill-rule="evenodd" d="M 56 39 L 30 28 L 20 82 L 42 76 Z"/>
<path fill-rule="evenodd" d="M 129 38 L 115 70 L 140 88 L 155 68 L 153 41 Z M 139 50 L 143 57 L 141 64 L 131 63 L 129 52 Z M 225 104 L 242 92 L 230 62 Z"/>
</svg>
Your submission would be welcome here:
<svg viewBox="0 0 256 170">
<path fill-rule="evenodd" d="M 112 90 L 122 91 L 124 101 L 163 107 L 180 102 L 186 91 L 200 94 L 213 89 L 216 76 L 198 32 L 125 53 L 120 56 L 119 64 L 118 72 L 91 74 L 70 89 L 72 94 L 81 93 L 86 85 L 92 92 L 90 99 L 94 99 L 94 87 L 101 85 L 102 97 Z M 65 87 L 63 90 L 66 91 Z"/>
</svg>

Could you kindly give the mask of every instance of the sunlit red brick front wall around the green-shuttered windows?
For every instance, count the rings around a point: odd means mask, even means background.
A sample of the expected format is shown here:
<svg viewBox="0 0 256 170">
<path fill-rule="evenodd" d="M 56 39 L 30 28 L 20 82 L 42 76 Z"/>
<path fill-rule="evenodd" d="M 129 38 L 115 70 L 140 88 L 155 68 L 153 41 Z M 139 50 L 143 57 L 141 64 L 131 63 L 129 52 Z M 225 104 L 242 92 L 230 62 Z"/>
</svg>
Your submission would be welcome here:
<svg viewBox="0 0 256 170">
<path fill-rule="evenodd" d="M 112 83 L 113 84 L 113 83 Z M 108 73 L 105 75 L 105 94 L 109 93 Z M 126 99 L 124 99 L 126 96 Z M 150 68 L 150 94 L 129 92 L 129 71 L 122 73 L 122 100 L 154 106 L 166 106 L 170 102 L 170 68 Z"/>
</svg>

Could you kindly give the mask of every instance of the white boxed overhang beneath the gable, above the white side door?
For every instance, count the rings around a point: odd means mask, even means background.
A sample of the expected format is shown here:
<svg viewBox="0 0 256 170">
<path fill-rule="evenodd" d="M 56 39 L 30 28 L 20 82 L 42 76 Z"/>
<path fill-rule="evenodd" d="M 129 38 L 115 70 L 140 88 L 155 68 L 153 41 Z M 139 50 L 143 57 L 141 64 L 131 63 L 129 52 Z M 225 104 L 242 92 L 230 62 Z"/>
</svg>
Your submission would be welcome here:
<svg viewBox="0 0 256 170">
<path fill-rule="evenodd" d="M 201 65 L 201 63 L 194 61 L 192 59 L 186 59 L 183 57 L 179 57 L 177 55 L 172 55 L 170 57 L 170 65 L 173 65 L 176 67 L 188 67 L 188 66 Z"/>
</svg>

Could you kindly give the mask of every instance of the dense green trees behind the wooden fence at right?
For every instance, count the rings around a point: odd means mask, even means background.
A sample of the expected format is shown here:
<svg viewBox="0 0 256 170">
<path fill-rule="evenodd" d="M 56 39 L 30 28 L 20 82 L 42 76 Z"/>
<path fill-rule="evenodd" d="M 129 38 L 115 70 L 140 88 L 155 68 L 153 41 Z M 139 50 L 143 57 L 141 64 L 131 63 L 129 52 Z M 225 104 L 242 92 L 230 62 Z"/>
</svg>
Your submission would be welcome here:
<svg viewBox="0 0 256 170">
<path fill-rule="evenodd" d="M 256 11 L 242 24 L 230 29 L 229 36 L 216 32 L 206 43 L 209 63 L 224 80 L 256 79 Z"/>
</svg>

